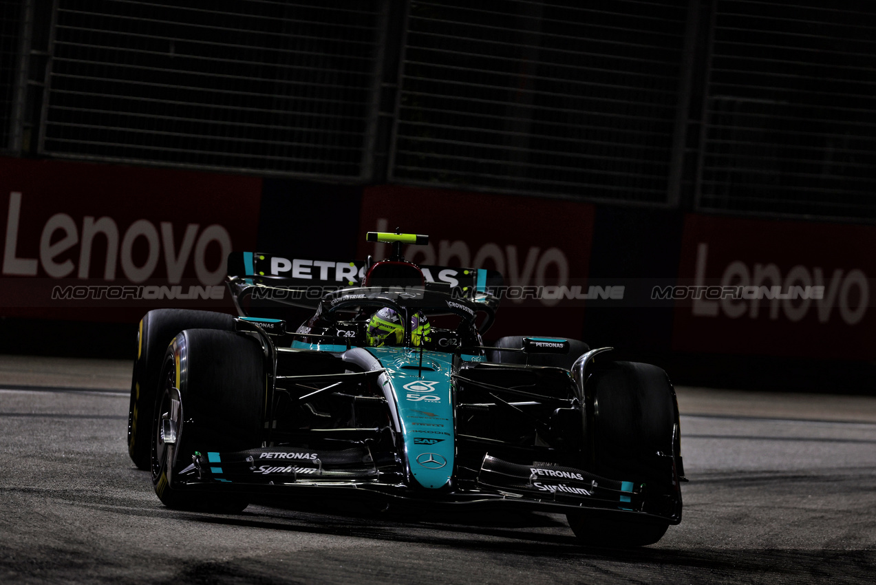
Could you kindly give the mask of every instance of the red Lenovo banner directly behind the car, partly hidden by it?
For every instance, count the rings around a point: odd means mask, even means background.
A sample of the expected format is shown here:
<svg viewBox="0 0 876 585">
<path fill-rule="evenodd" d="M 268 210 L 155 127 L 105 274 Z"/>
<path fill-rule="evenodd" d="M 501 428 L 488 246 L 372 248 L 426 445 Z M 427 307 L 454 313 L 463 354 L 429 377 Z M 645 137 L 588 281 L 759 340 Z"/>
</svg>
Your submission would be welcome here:
<svg viewBox="0 0 876 585">
<path fill-rule="evenodd" d="M 580 339 L 593 233 L 592 205 L 533 197 L 462 193 L 427 187 L 364 190 L 358 257 L 384 259 L 387 244 L 366 231 L 429 236 L 408 246 L 417 264 L 487 268 L 505 277 L 504 296 L 488 339 L 562 335 Z"/>
</svg>

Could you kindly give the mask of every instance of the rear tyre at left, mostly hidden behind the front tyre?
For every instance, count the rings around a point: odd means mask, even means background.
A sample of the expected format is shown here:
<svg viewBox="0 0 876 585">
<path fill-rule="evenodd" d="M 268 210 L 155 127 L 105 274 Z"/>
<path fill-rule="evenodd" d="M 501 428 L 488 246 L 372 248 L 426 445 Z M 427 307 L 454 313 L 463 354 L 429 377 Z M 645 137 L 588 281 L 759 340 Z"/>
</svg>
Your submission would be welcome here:
<svg viewBox="0 0 876 585">
<path fill-rule="evenodd" d="M 194 328 L 231 331 L 234 320 L 228 314 L 210 311 L 158 309 L 145 314 L 140 321 L 128 408 L 128 454 L 139 469 L 149 469 L 152 409 L 167 345 L 183 329 Z"/>
</svg>

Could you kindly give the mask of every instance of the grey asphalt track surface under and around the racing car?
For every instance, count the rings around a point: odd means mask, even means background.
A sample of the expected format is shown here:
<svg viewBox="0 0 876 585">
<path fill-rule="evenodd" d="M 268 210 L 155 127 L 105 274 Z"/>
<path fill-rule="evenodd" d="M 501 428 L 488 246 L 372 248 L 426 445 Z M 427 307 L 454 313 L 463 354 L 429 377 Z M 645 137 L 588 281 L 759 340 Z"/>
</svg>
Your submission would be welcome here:
<svg viewBox="0 0 876 585">
<path fill-rule="evenodd" d="M 684 518 L 171 511 L 125 448 L 130 365 L 0 356 L 0 583 L 872 583 L 876 398 L 680 388 Z"/>
</svg>

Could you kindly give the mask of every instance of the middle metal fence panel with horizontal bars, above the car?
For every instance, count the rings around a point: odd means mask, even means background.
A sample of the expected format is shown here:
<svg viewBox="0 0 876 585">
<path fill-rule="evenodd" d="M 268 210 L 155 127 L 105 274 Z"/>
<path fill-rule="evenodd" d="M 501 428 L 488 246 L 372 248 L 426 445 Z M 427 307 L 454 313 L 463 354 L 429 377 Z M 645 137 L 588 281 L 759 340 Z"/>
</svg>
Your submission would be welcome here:
<svg viewBox="0 0 876 585">
<path fill-rule="evenodd" d="M 665 203 L 687 4 L 411 3 L 392 179 Z"/>
</svg>

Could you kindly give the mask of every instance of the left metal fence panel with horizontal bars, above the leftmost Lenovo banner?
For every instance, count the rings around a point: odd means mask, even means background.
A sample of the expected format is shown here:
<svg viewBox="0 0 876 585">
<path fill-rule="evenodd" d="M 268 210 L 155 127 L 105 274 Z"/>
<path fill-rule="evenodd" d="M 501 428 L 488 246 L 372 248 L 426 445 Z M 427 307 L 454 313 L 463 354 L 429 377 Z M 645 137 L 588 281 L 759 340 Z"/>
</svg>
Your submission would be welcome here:
<svg viewBox="0 0 876 585">
<path fill-rule="evenodd" d="M 362 174 L 376 2 L 57 0 L 41 152 Z"/>
</svg>

